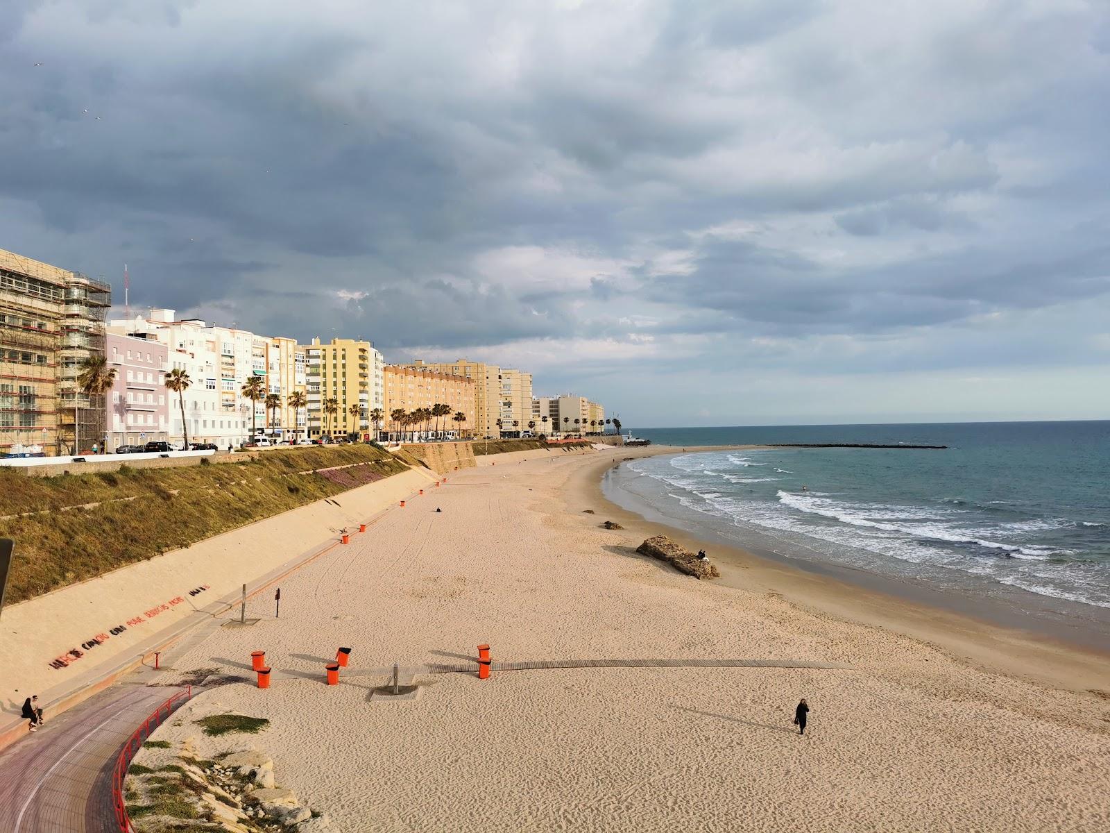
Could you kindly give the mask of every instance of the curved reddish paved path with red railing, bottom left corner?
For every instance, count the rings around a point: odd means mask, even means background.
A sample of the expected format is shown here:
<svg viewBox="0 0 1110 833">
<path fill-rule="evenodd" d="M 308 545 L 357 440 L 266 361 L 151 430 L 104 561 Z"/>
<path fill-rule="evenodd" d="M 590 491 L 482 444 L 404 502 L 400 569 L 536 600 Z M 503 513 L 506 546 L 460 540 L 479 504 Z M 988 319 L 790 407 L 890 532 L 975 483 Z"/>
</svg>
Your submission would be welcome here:
<svg viewBox="0 0 1110 833">
<path fill-rule="evenodd" d="M 118 833 L 112 767 L 131 733 L 174 692 L 114 685 L 0 752 L 0 831 Z"/>
</svg>

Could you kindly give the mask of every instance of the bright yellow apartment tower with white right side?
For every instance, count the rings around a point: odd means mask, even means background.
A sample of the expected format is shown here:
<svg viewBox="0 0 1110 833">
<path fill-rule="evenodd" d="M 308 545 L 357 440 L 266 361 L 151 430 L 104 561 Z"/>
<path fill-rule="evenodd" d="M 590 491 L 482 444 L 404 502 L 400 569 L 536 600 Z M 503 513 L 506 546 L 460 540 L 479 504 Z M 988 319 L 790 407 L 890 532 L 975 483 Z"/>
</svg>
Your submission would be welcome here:
<svg viewBox="0 0 1110 833">
<path fill-rule="evenodd" d="M 309 438 L 342 439 L 369 434 L 370 413 L 385 409 L 385 361 L 369 341 L 319 338 L 304 345 L 305 382 L 309 393 Z M 325 410 L 335 401 L 335 413 Z M 352 408 L 357 408 L 357 414 Z"/>
</svg>

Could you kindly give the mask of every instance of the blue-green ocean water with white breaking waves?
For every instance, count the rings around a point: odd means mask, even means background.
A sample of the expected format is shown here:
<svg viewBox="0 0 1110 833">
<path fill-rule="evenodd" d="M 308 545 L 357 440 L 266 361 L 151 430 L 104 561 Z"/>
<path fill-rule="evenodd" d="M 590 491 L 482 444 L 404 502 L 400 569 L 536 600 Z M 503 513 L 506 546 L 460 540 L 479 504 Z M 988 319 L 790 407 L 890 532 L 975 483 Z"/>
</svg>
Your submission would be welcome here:
<svg viewBox="0 0 1110 833">
<path fill-rule="evenodd" d="M 1110 609 L 1110 422 L 633 432 L 687 451 L 623 463 L 606 490 L 688 529 L 1047 611 Z M 775 442 L 949 448 L 697 451 Z"/>
</svg>

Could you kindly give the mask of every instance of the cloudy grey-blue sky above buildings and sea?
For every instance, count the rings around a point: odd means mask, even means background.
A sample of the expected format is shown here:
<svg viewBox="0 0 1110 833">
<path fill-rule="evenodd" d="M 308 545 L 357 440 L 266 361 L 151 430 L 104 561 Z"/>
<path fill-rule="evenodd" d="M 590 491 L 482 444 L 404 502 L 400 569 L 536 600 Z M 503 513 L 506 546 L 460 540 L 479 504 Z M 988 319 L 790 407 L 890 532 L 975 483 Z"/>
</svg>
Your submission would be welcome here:
<svg viewBox="0 0 1110 833">
<path fill-rule="evenodd" d="M 1107 418 L 1108 101 L 1104 0 L 4 0 L 0 247 L 632 426 Z"/>
</svg>

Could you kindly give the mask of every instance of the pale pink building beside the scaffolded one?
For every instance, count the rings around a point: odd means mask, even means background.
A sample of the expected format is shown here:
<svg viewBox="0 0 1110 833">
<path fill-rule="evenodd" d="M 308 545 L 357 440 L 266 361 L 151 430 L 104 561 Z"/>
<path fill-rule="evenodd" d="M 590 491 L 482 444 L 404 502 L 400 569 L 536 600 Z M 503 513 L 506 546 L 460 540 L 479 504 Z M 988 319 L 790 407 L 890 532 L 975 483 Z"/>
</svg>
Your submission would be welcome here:
<svg viewBox="0 0 1110 833">
<path fill-rule="evenodd" d="M 115 384 L 105 404 L 107 450 L 165 440 L 170 416 L 165 344 L 153 335 L 108 333 L 105 338 L 108 367 L 115 368 Z"/>
</svg>

